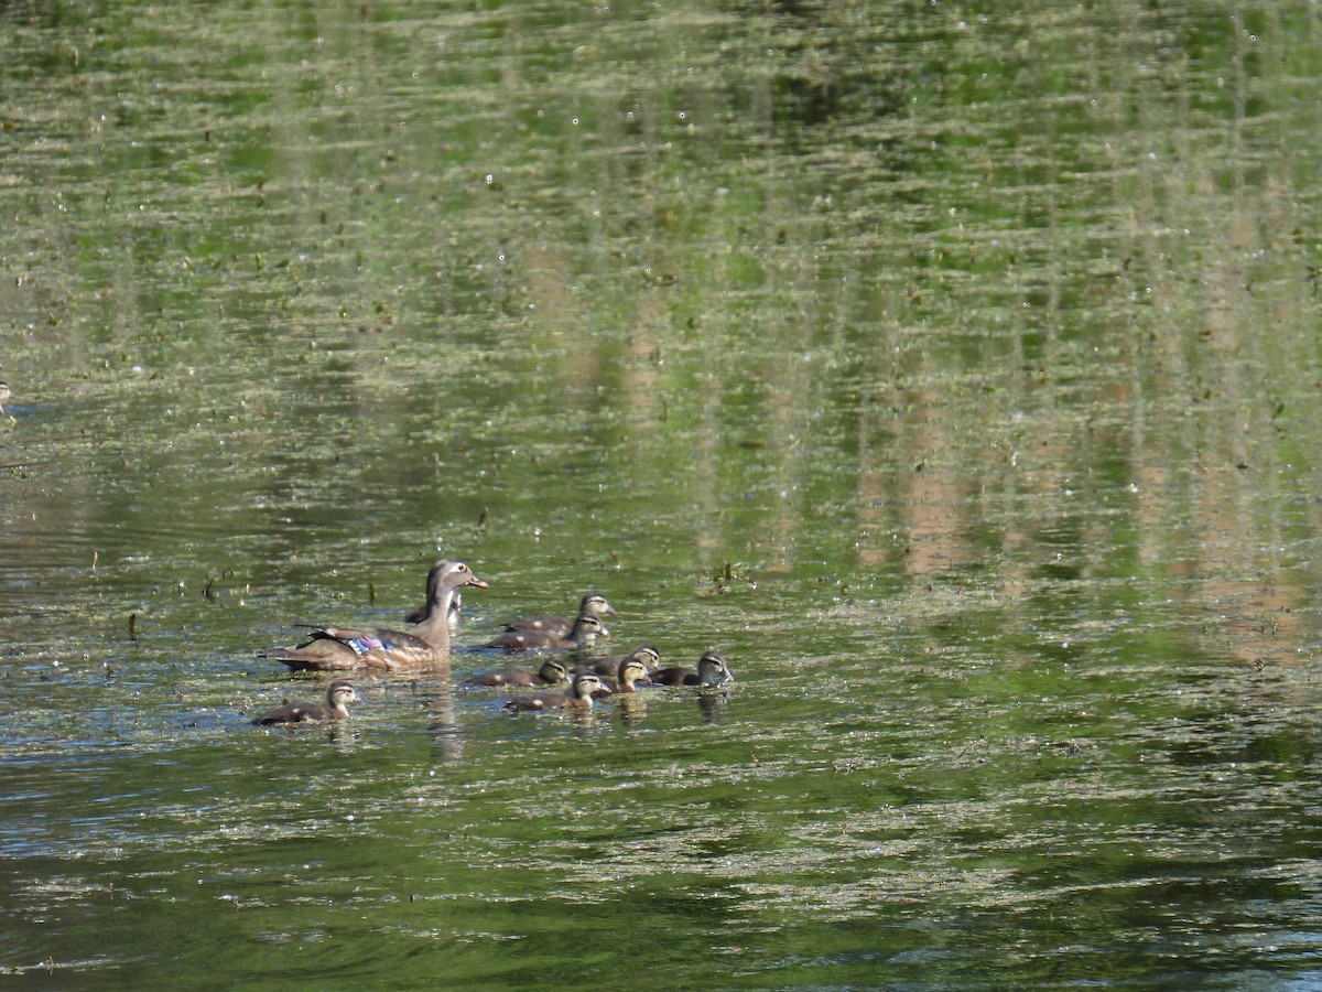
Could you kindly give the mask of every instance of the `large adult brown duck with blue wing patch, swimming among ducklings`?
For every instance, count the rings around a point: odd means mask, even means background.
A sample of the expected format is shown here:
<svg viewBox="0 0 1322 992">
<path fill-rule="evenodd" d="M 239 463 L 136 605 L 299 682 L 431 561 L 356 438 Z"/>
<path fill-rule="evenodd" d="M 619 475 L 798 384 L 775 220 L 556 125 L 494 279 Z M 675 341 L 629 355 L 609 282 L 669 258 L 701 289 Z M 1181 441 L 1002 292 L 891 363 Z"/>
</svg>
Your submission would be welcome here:
<svg viewBox="0 0 1322 992">
<path fill-rule="evenodd" d="M 432 610 L 407 631 L 313 627 L 312 638 L 293 648 L 263 651 L 258 657 L 283 661 L 295 671 L 342 672 L 374 668 L 394 672 L 443 664 L 449 657 L 449 598 L 464 586 L 486 589 L 461 561 L 432 565 L 438 571 Z M 431 583 L 428 583 L 431 585 Z"/>
</svg>

